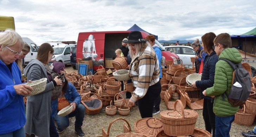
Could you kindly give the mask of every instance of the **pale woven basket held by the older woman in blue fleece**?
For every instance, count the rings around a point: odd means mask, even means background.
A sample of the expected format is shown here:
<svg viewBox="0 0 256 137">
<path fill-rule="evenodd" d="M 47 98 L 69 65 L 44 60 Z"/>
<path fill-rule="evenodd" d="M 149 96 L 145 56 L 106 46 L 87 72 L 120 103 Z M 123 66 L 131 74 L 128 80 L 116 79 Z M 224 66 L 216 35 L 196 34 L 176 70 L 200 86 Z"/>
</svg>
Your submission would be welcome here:
<svg viewBox="0 0 256 137">
<path fill-rule="evenodd" d="M 33 96 L 36 94 L 39 94 L 41 92 L 43 92 L 45 90 L 46 87 L 46 83 L 47 83 L 47 78 L 41 78 L 39 80 L 35 80 L 32 82 L 28 82 L 26 83 L 26 85 L 29 85 L 33 88 L 33 90 L 31 91 L 31 94 L 25 94 L 24 96 Z"/>
</svg>

